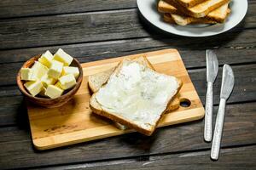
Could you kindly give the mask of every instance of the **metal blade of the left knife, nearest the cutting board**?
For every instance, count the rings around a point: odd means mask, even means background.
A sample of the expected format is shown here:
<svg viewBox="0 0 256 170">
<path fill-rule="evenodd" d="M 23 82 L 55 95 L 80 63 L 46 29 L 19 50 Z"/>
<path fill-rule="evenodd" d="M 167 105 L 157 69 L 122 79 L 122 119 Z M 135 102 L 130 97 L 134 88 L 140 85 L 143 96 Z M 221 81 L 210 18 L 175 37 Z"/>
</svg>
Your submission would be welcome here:
<svg viewBox="0 0 256 170">
<path fill-rule="evenodd" d="M 207 82 L 214 82 L 218 75 L 218 59 L 212 50 L 207 49 Z"/>
</svg>

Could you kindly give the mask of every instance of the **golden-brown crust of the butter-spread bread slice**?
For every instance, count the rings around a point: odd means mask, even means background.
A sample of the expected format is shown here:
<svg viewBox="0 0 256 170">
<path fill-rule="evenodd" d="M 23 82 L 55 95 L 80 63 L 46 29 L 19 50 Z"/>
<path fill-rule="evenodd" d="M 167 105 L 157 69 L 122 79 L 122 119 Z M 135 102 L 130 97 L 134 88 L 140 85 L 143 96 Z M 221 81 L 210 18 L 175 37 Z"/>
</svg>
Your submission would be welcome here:
<svg viewBox="0 0 256 170">
<path fill-rule="evenodd" d="M 131 60 L 131 59 L 128 59 L 128 60 Z M 117 66 L 117 68 L 115 69 L 115 71 L 113 71 L 113 74 L 118 72 L 122 66 L 123 62 L 119 63 L 119 65 Z M 178 82 L 178 88 L 177 88 L 177 92 L 176 94 L 174 94 L 172 96 L 171 99 L 169 99 L 167 105 L 166 105 L 166 110 L 168 109 L 168 105 L 170 105 L 170 103 L 172 102 L 172 99 L 174 99 L 176 97 L 176 95 L 178 94 L 180 88 L 182 87 L 183 85 L 183 82 L 177 78 L 177 82 Z M 107 82 L 108 83 L 108 82 Z M 108 111 L 103 111 L 102 110 L 102 107 L 101 105 L 99 105 L 96 101 L 96 94 L 93 94 L 90 98 L 90 109 L 95 112 L 97 115 L 100 115 L 100 116 L 105 116 L 105 117 L 108 117 L 108 119 L 111 119 L 113 122 L 119 122 L 127 127 L 131 127 L 133 129 L 135 129 L 137 132 L 139 133 L 143 133 L 147 136 L 150 136 L 153 132 L 154 132 L 154 129 L 156 128 L 158 122 L 160 121 L 160 119 L 156 122 L 155 126 L 152 126 L 150 127 L 150 129 L 144 129 L 143 127 L 139 127 L 137 126 L 137 124 L 133 123 L 133 122 L 129 122 L 127 120 L 125 120 L 125 117 L 122 117 L 122 116 L 117 116 L 117 115 L 114 115 L 112 113 L 108 113 Z M 161 114 L 160 114 L 160 117 L 166 112 L 165 111 L 162 111 Z"/>
</svg>

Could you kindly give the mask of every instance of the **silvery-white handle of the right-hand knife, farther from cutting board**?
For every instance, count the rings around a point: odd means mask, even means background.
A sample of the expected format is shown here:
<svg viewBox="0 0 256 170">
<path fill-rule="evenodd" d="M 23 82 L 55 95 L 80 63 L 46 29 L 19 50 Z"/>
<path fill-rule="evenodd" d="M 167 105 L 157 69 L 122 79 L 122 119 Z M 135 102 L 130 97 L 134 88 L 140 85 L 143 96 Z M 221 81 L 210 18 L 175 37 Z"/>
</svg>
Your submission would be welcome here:
<svg viewBox="0 0 256 170">
<path fill-rule="evenodd" d="M 212 150 L 211 150 L 212 160 L 218 160 L 220 141 L 221 141 L 223 127 L 224 127 L 225 106 L 226 106 L 226 99 L 220 99 L 215 128 L 214 128 L 213 140 L 212 140 Z"/>
</svg>

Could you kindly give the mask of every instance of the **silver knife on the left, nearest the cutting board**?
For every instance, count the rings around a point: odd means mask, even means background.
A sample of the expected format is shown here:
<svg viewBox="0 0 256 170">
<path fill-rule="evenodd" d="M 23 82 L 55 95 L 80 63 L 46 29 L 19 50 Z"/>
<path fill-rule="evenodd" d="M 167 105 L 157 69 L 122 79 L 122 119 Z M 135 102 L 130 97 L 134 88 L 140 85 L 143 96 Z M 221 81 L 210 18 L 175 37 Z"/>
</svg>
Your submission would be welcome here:
<svg viewBox="0 0 256 170">
<path fill-rule="evenodd" d="M 212 106 L 213 106 L 213 82 L 218 75 L 218 59 L 212 50 L 206 51 L 207 55 L 207 96 L 204 139 L 212 141 Z"/>
</svg>

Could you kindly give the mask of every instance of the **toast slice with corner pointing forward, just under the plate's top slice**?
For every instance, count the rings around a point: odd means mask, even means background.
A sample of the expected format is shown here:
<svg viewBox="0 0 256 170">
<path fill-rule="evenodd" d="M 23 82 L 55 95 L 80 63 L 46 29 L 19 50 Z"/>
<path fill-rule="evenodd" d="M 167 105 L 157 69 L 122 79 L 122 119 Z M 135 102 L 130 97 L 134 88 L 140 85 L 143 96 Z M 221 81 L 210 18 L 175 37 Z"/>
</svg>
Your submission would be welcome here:
<svg viewBox="0 0 256 170">
<path fill-rule="evenodd" d="M 230 0 L 207 0 L 203 3 L 199 3 L 191 8 L 184 8 L 182 5 L 177 3 L 177 0 L 165 0 L 166 3 L 171 4 L 173 7 L 177 8 L 178 11 L 181 11 L 183 14 L 195 17 L 202 18 L 207 14 L 212 12 L 212 10 L 221 7 L 225 3 L 229 3 Z"/>
</svg>

